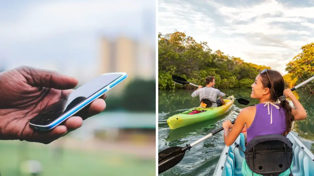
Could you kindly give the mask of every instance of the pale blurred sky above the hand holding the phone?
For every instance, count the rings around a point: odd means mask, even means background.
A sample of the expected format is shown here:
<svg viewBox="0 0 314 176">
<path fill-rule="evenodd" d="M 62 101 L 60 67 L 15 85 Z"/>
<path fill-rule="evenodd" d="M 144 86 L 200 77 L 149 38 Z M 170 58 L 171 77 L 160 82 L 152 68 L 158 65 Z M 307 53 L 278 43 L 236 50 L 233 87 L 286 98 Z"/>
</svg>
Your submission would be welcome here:
<svg viewBox="0 0 314 176">
<path fill-rule="evenodd" d="M 118 35 L 155 46 L 154 0 L 0 1 L 0 65 L 94 73 L 100 38 Z"/>
</svg>

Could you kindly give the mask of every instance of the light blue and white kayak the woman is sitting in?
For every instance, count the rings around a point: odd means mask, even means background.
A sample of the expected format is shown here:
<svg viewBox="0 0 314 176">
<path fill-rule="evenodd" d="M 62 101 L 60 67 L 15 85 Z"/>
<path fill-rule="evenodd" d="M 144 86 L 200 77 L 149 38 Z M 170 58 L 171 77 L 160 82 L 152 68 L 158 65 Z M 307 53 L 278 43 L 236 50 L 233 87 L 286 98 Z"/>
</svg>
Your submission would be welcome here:
<svg viewBox="0 0 314 176">
<path fill-rule="evenodd" d="M 290 132 L 287 135 L 287 138 L 293 143 L 292 174 L 293 176 L 313 176 L 314 155 L 293 133 Z M 245 151 L 245 137 L 243 133 L 239 135 L 236 142 Z M 225 146 L 215 168 L 214 176 L 242 176 L 241 167 L 243 161 L 245 161 L 245 155 L 239 148 L 234 148 L 235 144 L 232 144 L 230 147 Z"/>
</svg>

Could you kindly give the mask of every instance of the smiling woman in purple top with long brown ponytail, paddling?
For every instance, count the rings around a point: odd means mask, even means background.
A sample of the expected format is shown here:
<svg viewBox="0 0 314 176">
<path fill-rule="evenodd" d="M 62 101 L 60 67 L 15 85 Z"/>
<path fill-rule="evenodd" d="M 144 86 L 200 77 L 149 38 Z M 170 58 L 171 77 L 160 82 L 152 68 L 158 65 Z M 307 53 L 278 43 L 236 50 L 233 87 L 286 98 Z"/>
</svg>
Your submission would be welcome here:
<svg viewBox="0 0 314 176">
<path fill-rule="evenodd" d="M 232 145 L 236 141 L 245 126 L 247 129 L 246 140 L 250 142 L 252 138 L 257 136 L 270 134 L 287 135 L 294 120 L 304 120 L 306 118 L 305 109 L 292 94 L 292 91 L 284 89 L 284 78 L 279 72 L 263 70 L 257 75 L 251 87 L 251 98 L 258 99 L 259 104 L 242 109 L 233 125 L 229 120 L 222 124 L 224 140 L 227 146 Z M 289 102 L 283 95 L 292 100 L 295 108 L 289 105 Z M 247 171 L 247 173 L 252 175 L 252 171 L 246 165 L 245 160 L 242 164 L 242 173 L 243 171 Z M 289 175 L 290 171 L 285 173 L 280 174 L 280 176 Z M 260 174 L 254 173 L 254 175 Z"/>
</svg>

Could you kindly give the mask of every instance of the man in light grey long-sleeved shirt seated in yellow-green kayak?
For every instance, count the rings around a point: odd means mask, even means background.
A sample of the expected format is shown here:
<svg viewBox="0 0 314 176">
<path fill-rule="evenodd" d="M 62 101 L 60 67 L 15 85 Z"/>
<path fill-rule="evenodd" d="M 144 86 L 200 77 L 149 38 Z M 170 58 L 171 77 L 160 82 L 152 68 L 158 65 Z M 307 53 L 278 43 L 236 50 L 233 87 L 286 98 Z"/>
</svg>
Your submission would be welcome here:
<svg viewBox="0 0 314 176">
<path fill-rule="evenodd" d="M 205 83 L 206 87 L 199 85 L 198 89 L 192 93 L 193 98 L 199 96 L 201 107 L 218 107 L 226 104 L 222 99 L 226 94 L 214 88 L 215 78 L 213 76 L 208 76 L 205 79 Z M 217 96 L 219 96 L 218 99 Z"/>
</svg>

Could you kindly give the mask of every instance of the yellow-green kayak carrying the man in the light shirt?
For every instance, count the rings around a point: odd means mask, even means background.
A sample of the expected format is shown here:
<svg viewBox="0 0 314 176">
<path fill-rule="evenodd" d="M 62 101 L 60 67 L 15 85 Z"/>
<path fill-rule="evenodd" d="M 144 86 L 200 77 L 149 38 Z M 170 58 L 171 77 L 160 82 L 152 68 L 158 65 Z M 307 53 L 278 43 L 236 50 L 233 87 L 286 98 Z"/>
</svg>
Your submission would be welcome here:
<svg viewBox="0 0 314 176">
<path fill-rule="evenodd" d="M 234 98 L 233 95 L 230 97 Z M 219 107 L 197 107 L 171 116 L 167 119 L 167 124 L 170 129 L 176 129 L 221 116 L 230 111 L 234 103 L 234 99 L 224 99 L 224 101 L 226 104 Z M 197 110 L 199 113 L 192 114 L 194 110 Z"/>
</svg>

